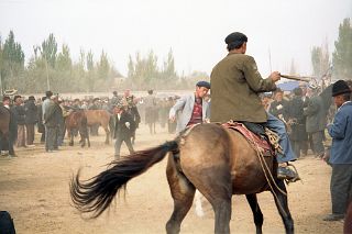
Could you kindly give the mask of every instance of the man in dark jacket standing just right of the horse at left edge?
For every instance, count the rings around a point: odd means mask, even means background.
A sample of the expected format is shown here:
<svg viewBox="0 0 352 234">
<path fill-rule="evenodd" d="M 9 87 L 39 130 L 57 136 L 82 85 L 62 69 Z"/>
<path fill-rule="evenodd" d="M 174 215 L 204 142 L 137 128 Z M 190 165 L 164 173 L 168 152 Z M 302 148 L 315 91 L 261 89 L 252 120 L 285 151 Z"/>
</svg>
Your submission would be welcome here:
<svg viewBox="0 0 352 234">
<path fill-rule="evenodd" d="M 14 96 L 13 98 L 14 107 L 12 108 L 16 123 L 18 123 L 18 147 L 25 146 L 25 110 L 23 107 L 23 101 L 21 96 Z"/>
</svg>

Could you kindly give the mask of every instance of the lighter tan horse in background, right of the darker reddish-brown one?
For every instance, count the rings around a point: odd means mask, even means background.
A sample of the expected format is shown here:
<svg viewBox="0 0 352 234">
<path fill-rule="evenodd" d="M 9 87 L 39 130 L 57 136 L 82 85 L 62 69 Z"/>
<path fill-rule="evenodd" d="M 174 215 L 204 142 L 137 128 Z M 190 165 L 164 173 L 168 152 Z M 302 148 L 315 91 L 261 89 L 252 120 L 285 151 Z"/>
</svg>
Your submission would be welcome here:
<svg viewBox="0 0 352 234">
<path fill-rule="evenodd" d="M 85 113 L 87 116 L 88 126 L 92 126 L 95 124 L 102 126 L 102 129 L 106 131 L 106 144 L 109 144 L 109 122 L 111 114 L 105 110 L 86 110 Z"/>
</svg>

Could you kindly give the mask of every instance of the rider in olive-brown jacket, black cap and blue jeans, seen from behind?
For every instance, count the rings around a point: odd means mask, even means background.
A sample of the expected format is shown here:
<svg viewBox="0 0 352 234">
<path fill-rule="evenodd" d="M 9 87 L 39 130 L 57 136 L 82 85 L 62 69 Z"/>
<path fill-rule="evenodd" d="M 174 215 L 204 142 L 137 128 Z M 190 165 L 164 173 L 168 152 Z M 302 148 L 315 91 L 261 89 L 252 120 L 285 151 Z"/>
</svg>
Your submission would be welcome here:
<svg viewBox="0 0 352 234">
<path fill-rule="evenodd" d="M 277 155 L 279 179 L 295 181 L 298 175 L 287 167 L 295 160 L 284 123 L 268 114 L 261 103 L 260 93 L 274 91 L 280 74 L 274 71 L 263 79 L 253 57 L 245 55 L 248 37 L 235 32 L 224 40 L 229 54 L 212 69 L 211 81 L 211 122 L 230 120 L 266 125 L 279 136 L 284 154 Z"/>
</svg>

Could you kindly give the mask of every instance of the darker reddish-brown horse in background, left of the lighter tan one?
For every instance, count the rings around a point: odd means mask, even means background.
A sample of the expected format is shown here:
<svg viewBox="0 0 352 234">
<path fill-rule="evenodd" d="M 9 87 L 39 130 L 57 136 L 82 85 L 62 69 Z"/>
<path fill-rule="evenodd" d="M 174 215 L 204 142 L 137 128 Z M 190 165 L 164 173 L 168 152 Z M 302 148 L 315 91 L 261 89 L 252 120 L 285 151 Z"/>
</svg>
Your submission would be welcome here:
<svg viewBox="0 0 352 234">
<path fill-rule="evenodd" d="M 88 147 L 90 147 L 87 116 L 84 110 L 72 111 L 68 116 L 66 116 L 65 125 L 67 130 L 67 135 L 69 138 L 69 146 L 74 146 L 74 137 L 76 132 L 79 132 L 80 135 L 80 146 L 86 146 L 86 140 L 88 142 Z"/>
</svg>

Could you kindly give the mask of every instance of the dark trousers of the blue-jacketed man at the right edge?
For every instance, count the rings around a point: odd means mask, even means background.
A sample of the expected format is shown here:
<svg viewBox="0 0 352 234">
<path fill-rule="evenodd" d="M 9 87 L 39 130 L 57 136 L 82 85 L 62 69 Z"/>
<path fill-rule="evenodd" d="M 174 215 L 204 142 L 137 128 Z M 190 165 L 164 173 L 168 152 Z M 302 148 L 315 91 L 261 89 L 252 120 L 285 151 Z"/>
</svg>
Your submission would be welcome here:
<svg viewBox="0 0 352 234">
<path fill-rule="evenodd" d="M 332 213 L 344 214 L 352 190 L 352 164 L 333 164 L 330 182 Z"/>
</svg>

